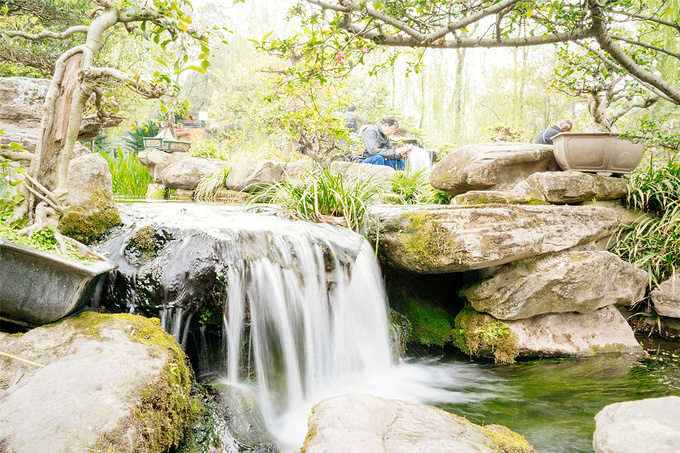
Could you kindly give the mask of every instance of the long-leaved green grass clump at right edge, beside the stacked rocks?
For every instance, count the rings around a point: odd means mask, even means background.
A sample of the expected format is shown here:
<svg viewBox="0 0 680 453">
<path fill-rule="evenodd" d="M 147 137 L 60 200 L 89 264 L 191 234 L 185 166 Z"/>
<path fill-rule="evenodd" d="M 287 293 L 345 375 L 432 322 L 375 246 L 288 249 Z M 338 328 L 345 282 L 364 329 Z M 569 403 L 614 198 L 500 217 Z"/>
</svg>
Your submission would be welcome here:
<svg viewBox="0 0 680 453">
<path fill-rule="evenodd" d="M 671 277 L 680 263 L 680 161 L 636 169 L 628 205 L 647 215 L 621 225 L 614 253 L 649 273 L 650 288 Z"/>
</svg>

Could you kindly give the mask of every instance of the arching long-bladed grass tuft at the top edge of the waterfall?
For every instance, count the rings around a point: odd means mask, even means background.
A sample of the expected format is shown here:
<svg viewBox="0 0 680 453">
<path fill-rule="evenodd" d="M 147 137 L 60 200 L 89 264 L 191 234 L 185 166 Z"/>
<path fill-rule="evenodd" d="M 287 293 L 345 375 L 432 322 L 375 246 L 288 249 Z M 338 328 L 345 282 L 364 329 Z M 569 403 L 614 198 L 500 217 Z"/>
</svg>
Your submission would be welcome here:
<svg viewBox="0 0 680 453">
<path fill-rule="evenodd" d="M 249 202 L 280 203 L 301 219 L 332 222 L 331 217 L 358 231 L 370 199 L 376 193 L 375 184 L 370 180 L 345 178 L 323 168 L 304 175 L 302 181 L 287 180 L 273 185 L 251 197 Z"/>
</svg>

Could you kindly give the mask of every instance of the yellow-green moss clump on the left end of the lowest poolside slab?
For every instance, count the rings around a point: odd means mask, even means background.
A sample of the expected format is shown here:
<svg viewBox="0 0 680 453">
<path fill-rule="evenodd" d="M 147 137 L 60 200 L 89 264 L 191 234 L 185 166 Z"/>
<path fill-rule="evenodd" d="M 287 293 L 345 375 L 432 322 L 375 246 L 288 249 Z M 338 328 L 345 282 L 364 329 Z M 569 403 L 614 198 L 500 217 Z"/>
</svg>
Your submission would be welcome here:
<svg viewBox="0 0 680 453">
<path fill-rule="evenodd" d="M 493 355 L 496 362 L 514 362 L 519 339 L 509 326 L 467 306 L 456 316 L 454 344 L 470 356 Z"/>
</svg>

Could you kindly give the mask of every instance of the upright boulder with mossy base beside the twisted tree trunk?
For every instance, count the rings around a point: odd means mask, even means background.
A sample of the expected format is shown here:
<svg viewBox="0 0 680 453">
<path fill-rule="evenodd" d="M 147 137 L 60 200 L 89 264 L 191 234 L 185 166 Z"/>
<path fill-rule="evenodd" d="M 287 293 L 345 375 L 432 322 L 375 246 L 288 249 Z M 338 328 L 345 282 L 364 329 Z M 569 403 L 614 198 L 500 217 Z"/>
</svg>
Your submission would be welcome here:
<svg viewBox="0 0 680 453">
<path fill-rule="evenodd" d="M 111 186 L 109 165 L 101 154 L 86 154 L 71 160 L 67 211 L 59 222 L 59 231 L 89 244 L 112 226 L 120 224 Z"/>
</svg>

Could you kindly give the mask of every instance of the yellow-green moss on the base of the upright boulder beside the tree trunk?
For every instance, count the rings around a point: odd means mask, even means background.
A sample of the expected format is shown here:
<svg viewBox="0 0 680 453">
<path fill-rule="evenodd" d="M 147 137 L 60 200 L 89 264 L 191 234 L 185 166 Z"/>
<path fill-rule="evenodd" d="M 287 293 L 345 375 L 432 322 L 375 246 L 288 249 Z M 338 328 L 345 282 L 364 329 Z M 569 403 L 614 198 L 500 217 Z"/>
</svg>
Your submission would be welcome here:
<svg viewBox="0 0 680 453">
<path fill-rule="evenodd" d="M 116 205 L 112 203 L 104 192 L 96 187 L 92 189 L 92 197 L 86 211 L 67 210 L 59 221 L 59 231 L 84 244 L 90 244 L 99 239 L 114 225 L 121 223 Z"/>
</svg>

